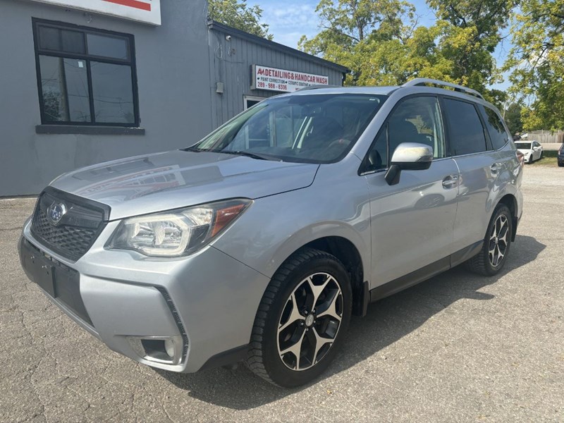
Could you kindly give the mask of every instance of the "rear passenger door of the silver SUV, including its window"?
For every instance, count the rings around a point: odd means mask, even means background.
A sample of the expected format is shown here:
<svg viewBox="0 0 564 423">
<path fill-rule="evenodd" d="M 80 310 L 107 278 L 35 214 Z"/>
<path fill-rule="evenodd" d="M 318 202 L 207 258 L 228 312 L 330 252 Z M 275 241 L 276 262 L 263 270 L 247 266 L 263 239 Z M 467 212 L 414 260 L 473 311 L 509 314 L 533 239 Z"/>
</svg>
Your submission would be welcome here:
<svg viewBox="0 0 564 423">
<path fill-rule="evenodd" d="M 453 242 L 457 252 L 484 239 L 503 155 L 491 147 L 476 104 L 458 97 L 444 97 L 442 102 L 450 153 L 460 172 Z"/>
</svg>

